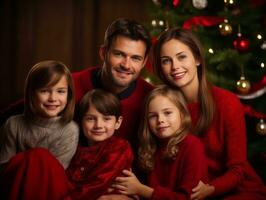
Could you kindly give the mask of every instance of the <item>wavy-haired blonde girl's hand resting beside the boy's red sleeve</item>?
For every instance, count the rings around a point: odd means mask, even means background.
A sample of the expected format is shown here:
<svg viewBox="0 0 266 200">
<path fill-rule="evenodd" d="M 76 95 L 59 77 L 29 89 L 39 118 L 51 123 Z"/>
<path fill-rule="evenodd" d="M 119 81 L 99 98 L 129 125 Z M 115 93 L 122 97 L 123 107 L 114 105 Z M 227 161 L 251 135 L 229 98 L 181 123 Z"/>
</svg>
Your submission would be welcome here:
<svg viewBox="0 0 266 200">
<path fill-rule="evenodd" d="M 112 187 L 117 189 L 121 194 L 137 195 L 142 184 L 131 171 L 123 170 L 123 174 L 126 177 L 117 177 Z"/>
</svg>

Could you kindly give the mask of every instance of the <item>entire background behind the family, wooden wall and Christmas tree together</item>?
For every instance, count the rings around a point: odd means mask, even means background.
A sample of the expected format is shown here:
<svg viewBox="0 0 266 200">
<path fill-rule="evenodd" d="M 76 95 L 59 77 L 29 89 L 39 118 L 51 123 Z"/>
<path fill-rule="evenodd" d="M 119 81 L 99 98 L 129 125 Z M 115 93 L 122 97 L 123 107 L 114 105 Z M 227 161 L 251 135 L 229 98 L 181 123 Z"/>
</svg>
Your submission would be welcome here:
<svg viewBox="0 0 266 200">
<path fill-rule="evenodd" d="M 0 107 L 23 97 L 29 69 L 56 59 L 72 72 L 100 65 L 98 50 L 116 18 L 145 25 L 153 42 L 167 28 L 203 43 L 209 80 L 234 92 L 246 114 L 248 159 L 266 182 L 266 0 L 2 0 Z M 158 79 L 150 62 L 143 71 Z"/>
</svg>

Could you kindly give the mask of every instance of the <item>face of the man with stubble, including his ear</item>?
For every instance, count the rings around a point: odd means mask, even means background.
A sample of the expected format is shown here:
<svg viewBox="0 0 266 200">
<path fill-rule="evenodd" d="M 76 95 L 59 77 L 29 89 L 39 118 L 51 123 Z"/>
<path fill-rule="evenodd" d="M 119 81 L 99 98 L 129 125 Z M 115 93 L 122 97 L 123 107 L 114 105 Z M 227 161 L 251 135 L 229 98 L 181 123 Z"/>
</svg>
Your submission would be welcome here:
<svg viewBox="0 0 266 200">
<path fill-rule="evenodd" d="M 114 92 L 119 93 L 136 80 L 146 63 L 146 45 L 141 40 L 118 36 L 108 51 L 102 49 L 103 70 L 107 82 Z"/>
</svg>

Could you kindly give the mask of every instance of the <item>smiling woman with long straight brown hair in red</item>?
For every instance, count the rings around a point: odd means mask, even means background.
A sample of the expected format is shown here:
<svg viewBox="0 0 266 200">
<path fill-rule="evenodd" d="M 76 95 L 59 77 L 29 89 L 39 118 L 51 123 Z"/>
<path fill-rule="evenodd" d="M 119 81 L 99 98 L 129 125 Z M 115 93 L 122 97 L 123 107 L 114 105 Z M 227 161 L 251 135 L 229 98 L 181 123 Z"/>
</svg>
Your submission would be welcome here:
<svg viewBox="0 0 266 200">
<path fill-rule="evenodd" d="M 244 112 L 229 91 L 211 86 L 199 41 L 188 30 L 168 29 L 154 48 L 160 79 L 184 94 L 195 133 L 205 147 L 209 182 L 200 181 L 192 199 L 266 199 L 266 189 L 248 164 Z"/>
</svg>

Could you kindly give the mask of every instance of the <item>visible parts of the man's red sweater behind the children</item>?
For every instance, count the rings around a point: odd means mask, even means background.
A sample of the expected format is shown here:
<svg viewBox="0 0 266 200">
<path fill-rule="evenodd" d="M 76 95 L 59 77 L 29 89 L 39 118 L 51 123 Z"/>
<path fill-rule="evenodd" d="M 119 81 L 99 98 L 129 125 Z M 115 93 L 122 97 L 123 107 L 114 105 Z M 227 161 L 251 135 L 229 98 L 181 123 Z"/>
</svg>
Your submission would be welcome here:
<svg viewBox="0 0 266 200">
<path fill-rule="evenodd" d="M 80 72 L 73 73 L 73 80 L 75 85 L 75 95 L 77 102 L 89 90 L 93 89 L 91 82 L 91 73 L 98 68 L 91 67 Z M 125 99 L 121 99 L 123 123 L 119 128 L 118 136 L 135 142 L 137 139 L 137 129 L 139 124 L 142 104 L 146 94 L 151 91 L 153 87 L 141 78 L 137 79 L 137 85 L 133 93 Z"/>
</svg>

